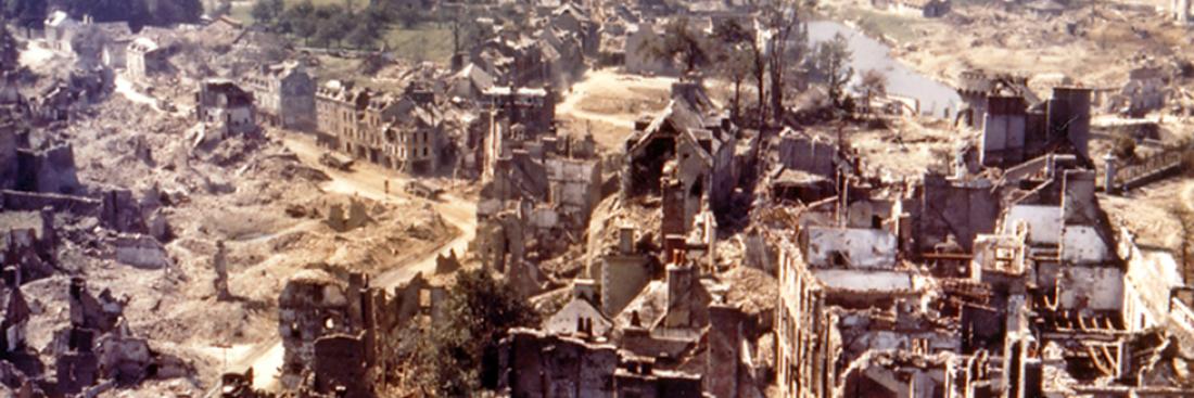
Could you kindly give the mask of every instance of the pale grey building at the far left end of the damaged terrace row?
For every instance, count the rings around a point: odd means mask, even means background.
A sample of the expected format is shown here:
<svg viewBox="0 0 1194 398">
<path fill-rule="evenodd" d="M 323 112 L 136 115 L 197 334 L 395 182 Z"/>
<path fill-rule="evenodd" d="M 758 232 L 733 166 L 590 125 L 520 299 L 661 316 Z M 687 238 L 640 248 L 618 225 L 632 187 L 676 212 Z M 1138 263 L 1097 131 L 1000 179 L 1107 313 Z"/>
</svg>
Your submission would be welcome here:
<svg viewBox="0 0 1194 398">
<path fill-rule="evenodd" d="M 263 66 L 242 80 L 270 125 L 310 131 L 315 126 L 315 81 L 298 62 Z"/>
</svg>

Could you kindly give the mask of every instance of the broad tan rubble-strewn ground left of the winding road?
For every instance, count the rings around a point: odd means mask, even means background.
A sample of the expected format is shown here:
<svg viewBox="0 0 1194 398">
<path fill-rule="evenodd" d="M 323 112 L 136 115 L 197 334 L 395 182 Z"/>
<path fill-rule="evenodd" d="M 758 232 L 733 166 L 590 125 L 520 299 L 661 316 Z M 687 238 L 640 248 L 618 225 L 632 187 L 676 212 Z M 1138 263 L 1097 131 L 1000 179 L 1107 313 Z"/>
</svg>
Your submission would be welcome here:
<svg viewBox="0 0 1194 398">
<path fill-rule="evenodd" d="M 170 204 L 164 211 L 176 235 L 167 251 L 174 263 L 161 270 L 136 269 L 96 259 L 69 242 L 61 262 L 86 274 L 96 293 L 106 287 L 129 297 L 125 317 L 134 334 L 195 365 L 198 373 L 190 383 L 142 388 L 139 393 L 146 397 L 210 386 L 219 372 L 246 357 L 279 355 L 271 344 L 277 338 L 275 305 L 285 279 L 297 270 L 326 267 L 405 280 L 413 275 L 405 265 L 425 270 L 430 255 L 433 267 L 433 254 L 445 247 L 461 253 L 458 241 L 468 236 L 462 230 L 472 232 L 468 223 L 475 211 L 467 205 L 387 194 L 387 174 L 378 170 L 322 170 L 313 145 L 293 144 L 306 137 L 271 131 L 192 151 L 184 138 L 189 120 L 124 98 L 136 94 L 122 94 L 67 131 L 80 180 L 92 187 L 129 187 L 139 198 L 150 187 L 165 193 Z M 139 154 L 141 148 L 146 151 Z M 401 180 L 392 180 L 399 191 Z M 346 206 L 353 197 L 371 222 L 347 232 L 332 230 L 324 220 L 327 209 Z M 94 223 L 67 222 L 76 229 Z M 227 242 L 233 301 L 215 299 L 210 259 L 217 241 Z M 51 331 L 67 322 L 68 282 L 51 278 L 29 286 L 41 312 L 30 329 L 30 336 L 38 336 L 35 347 L 48 343 Z"/>
</svg>

